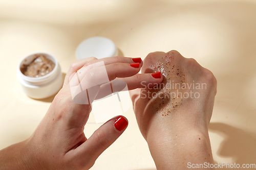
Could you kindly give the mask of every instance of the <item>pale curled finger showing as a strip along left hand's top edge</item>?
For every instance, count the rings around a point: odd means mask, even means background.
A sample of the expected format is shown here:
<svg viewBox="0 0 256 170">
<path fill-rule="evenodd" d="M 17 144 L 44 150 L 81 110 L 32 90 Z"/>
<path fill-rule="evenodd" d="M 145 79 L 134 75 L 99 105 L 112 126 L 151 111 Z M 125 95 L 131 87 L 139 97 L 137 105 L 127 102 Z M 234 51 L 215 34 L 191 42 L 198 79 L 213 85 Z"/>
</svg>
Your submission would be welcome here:
<svg viewBox="0 0 256 170">
<path fill-rule="evenodd" d="M 79 70 L 80 68 L 82 68 L 87 62 L 92 61 L 92 60 L 97 60 L 97 58 L 95 57 L 89 57 L 89 58 L 84 58 L 81 60 L 77 60 L 75 62 L 73 62 L 66 74 L 63 86 L 66 86 L 69 81 L 70 81 L 70 76 L 73 75 L 74 76 L 74 72 L 76 72 L 77 70 Z"/>
</svg>

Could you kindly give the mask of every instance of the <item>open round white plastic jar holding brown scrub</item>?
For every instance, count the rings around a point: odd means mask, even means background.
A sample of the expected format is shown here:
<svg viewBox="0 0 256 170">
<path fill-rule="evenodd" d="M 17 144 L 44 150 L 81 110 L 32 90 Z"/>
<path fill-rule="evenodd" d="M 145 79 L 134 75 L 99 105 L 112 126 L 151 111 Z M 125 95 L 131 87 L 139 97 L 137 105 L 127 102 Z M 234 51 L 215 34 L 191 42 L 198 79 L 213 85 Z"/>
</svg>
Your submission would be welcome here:
<svg viewBox="0 0 256 170">
<path fill-rule="evenodd" d="M 30 64 L 38 55 L 43 55 L 51 60 L 55 64 L 55 67 L 49 74 L 42 77 L 32 78 L 25 76 L 20 68 L 24 64 Z M 53 55 L 48 53 L 33 53 L 20 60 L 17 68 L 17 78 L 24 92 L 33 99 L 48 98 L 56 94 L 63 84 L 61 68 L 58 61 Z"/>
</svg>

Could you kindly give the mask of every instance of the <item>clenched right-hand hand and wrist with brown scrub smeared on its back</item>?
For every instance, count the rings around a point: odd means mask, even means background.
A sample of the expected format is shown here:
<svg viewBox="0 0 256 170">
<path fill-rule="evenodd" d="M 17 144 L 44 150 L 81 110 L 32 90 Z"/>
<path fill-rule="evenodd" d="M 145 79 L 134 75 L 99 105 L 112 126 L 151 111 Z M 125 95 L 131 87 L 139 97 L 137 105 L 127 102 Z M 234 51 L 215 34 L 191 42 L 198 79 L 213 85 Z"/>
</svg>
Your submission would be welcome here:
<svg viewBox="0 0 256 170">
<path fill-rule="evenodd" d="M 148 54 L 142 74 L 157 71 L 164 76 L 162 85 L 155 89 L 144 86 L 144 89 L 130 91 L 141 134 L 147 141 L 157 169 L 187 169 L 188 162 L 214 163 L 208 125 L 217 92 L 216 78 L 196 60 L 184 58 L 177 51 Z M 188 86 L 170 89 L 166 87 L 169 81 L 192 86 L 190 89 Z M 193 89 L 193 83 L 205 83 L 206 88 Z M 156 98 L 153 98 L 153 92 L 158 94 Z M 170 93 L 173 98 L 164 96 Z M 195 93 L 197 98 L 193 95 Z"/>
</svg>

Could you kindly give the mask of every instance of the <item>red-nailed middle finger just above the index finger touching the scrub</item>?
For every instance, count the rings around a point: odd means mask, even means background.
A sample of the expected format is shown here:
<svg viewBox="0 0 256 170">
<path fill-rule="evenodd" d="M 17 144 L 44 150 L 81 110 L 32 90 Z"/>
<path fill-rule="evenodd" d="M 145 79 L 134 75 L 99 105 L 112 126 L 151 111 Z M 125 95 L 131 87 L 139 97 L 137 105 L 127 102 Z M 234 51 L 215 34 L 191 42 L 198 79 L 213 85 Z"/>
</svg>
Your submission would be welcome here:
<svg viewBox="0 0 256 170">
<path fill-rule="evenodd" d="M 88 70 L 80 71 L 81 69 Z M 101 61 L 81 69 L 76 72 L 69 84 L 72 99 L 76 104 L 92 104 L 99 92 L 100 85 L 109 83 L 116 77 L 123 78 L 137 74 L 140 70 L 140 64 L 114 63 L 104 65 Z M 86 75 L 82 76 L 85 72 Z"/>
</svg>

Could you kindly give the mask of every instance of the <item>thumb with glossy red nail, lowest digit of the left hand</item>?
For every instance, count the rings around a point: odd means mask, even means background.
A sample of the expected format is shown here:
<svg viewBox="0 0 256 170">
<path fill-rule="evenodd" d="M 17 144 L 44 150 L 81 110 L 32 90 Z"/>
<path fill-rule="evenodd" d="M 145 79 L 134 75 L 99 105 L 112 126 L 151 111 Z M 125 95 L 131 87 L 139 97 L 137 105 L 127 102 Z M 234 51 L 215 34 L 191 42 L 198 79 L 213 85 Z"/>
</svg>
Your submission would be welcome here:
<svg viewBox="0 0 256 170">
<path fill-rule="evenodd" d="M 110 119 L 77 148 L 78 157 L 94 162 L 123 133 L 127 125 L 128 121 L 124 116 Z"/>
</svg>

